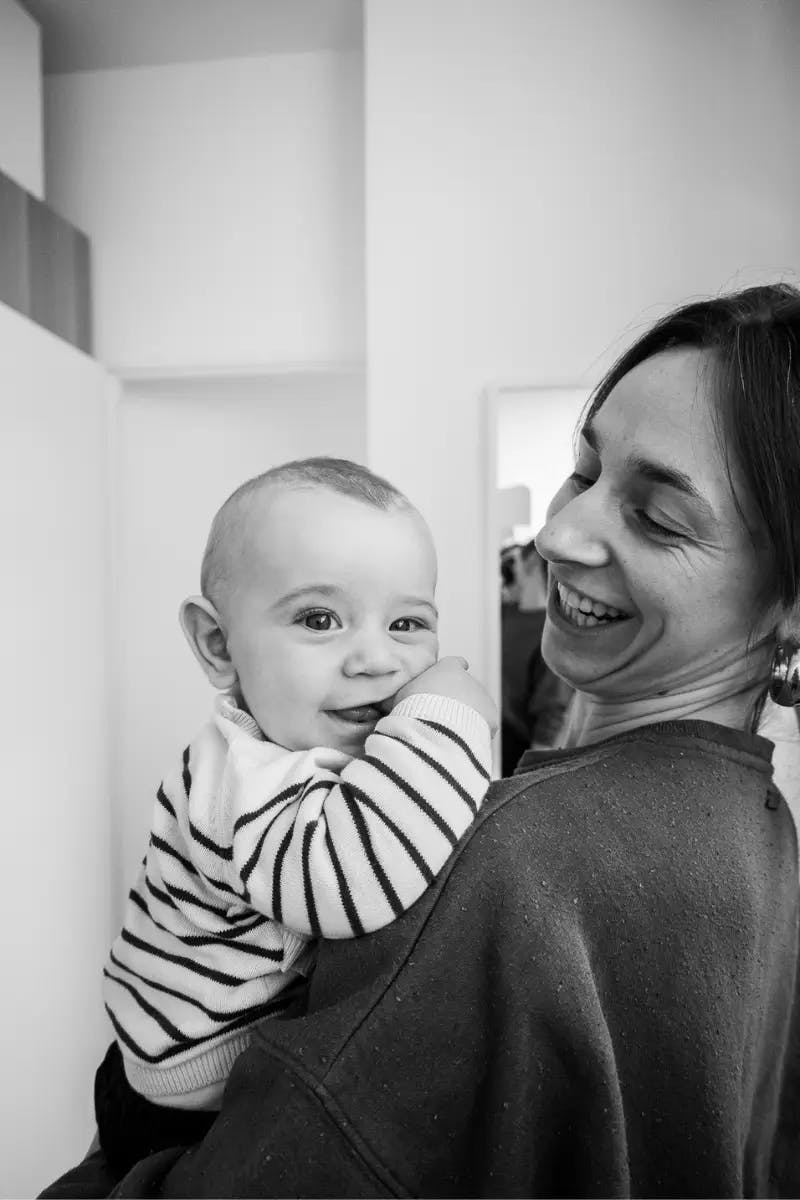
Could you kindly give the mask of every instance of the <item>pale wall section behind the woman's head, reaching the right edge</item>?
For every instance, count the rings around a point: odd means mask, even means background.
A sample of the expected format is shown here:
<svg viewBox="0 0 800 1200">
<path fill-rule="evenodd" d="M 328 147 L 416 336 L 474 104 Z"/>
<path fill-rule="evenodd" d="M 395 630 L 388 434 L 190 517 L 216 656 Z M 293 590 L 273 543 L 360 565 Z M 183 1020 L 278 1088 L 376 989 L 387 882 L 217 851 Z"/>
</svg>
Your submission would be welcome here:
<svg viewBox="0 0 800 1200">
<path fill-rule="evenodd" d="M 594 382 L 664 306 L 798 270 L 800 10 L 371 0 L 366 18 L 369 461 L 429 516 L 443 642 L 480 671 L 481 390 Z"/>
</svg>

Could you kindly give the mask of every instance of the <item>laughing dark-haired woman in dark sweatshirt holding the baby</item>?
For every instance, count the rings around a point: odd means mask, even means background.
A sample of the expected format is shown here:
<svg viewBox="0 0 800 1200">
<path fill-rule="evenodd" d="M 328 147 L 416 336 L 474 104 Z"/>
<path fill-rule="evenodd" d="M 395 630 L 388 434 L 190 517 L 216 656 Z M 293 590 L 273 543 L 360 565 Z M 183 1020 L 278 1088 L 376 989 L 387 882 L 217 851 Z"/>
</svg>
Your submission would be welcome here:
<svg viewBox="0 0 800 1200">
<path fill-rule="evenodd" d="M 564 746 L 118 1194 L 800 1194 L 796 841 L 756 733 L 770 678 L 800 701 L 799 506 L 798 292 L 622 355 L 536 539 Z"/>
</svg>

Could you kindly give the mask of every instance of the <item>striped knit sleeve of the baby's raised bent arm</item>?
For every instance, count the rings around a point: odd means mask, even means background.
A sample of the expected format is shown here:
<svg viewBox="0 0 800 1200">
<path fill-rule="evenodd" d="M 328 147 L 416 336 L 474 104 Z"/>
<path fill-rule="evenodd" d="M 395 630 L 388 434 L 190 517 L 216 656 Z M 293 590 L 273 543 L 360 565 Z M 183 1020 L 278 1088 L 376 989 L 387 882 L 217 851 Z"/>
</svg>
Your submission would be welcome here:
<svg viewBox="0 0 800 1200">
<path fill-rule="evenodd" d="M 225 773 L 221 862 L 243 904 L 312 937 L 389 924 L 433 882 L 475 820 L 491 778 L 483 718 L 420 694 L 378 721 L 361 758 L 284 752 L 281 778 Z M 277 766 L 277 764 L 276 764 Z"/>
</svg>

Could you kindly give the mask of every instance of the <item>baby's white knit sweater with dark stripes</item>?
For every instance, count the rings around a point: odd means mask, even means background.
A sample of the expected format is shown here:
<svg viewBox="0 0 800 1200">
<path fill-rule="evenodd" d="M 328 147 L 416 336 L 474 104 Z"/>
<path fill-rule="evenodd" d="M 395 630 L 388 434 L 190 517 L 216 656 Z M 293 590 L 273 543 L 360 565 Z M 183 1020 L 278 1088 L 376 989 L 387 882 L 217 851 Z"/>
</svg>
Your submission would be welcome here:
<svg viewBox="0 0 800 1200">
<path fill-rule="evenodd" d="M 309 940 L 380 929 L 477 815 L 491 736 L 445 696 L 402 701 L 351 758 L 267 742 L 228 696 L 158 787 L 104 970 L 131 1085 L 215 1106 L 251 1027 L 290 1003 Z"/>
</svg>

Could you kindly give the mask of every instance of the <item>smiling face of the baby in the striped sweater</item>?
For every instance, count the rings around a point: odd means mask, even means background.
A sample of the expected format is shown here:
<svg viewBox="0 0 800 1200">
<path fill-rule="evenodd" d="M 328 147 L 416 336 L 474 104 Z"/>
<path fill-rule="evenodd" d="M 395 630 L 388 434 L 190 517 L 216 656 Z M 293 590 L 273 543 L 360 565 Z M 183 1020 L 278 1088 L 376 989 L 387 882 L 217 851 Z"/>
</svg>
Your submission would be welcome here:
<svg viewBox="0 0 800 1200">
<path fill-rule="evenodd" d="M 246 518 L 225 604 L 242 698 L 290 750 L 363 751 L 377 707 L 435 662 L 435 552 L 419 514 L 321 487 Z"/>
</svg>

